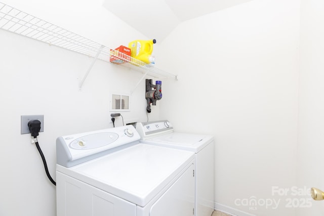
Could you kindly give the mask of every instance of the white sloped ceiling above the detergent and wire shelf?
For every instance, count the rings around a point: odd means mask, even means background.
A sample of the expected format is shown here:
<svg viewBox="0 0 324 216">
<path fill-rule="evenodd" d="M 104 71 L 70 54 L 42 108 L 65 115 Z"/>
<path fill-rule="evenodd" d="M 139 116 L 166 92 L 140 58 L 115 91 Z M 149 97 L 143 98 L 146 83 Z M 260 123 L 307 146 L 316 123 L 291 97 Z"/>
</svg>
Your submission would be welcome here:
<svg viewBox="0 0 324 216">
<path fill-rule="evenodd" d="M 104 0 L 103 7 L 147 38 L 163 40 L 181 22 L 252 0 Z"/>
</svg>

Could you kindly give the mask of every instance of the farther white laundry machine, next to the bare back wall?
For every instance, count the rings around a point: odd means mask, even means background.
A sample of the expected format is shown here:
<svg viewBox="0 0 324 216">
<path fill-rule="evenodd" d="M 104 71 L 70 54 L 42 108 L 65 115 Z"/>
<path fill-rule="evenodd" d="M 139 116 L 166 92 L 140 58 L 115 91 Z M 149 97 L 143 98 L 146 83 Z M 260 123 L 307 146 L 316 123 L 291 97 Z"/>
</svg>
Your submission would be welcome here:
<svg viewBox="0 0 324 216">
<path fill-rule="evenodd" d="M 176 133 L 168 120 L 136 124 L 141 143 L 195 153 L 195 216 L 210 216 L 214 210 L 214 138 Z"/>
</svg>

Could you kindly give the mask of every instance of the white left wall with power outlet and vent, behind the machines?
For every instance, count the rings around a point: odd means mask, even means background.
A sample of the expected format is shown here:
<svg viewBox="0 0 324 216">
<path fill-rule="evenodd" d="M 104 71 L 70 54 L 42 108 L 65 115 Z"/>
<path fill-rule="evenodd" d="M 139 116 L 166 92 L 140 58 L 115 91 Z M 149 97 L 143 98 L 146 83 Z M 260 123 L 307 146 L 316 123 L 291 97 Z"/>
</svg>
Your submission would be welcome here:
<svg viewBox="0 0 324 216">
<path fill-rule="evenodd" d="M 5 1 L 30 14 L 118 47 L 145 38 L 101 7 L 101 1 Z M 72 12 L 73 10 L 73 12 Z M 44 114 L 38 136 L 55 179 L 56 138 L 112 127 L 111 93 L 130 93 L 141 73 L 98 60 L 82 90 L 78 85 L 92 58 L 0 30 L 0 215 L 56 215 L 55 187 L 47 179 L 30 135 L 20 135 L 20 116 Z M 145 80 L 131 96 L 124 120 L 146 121 Z M 150 120 L 158 116 L 152 107 Z M 121 125 L 121 119 L 116 119 Z"/>
</svg>

